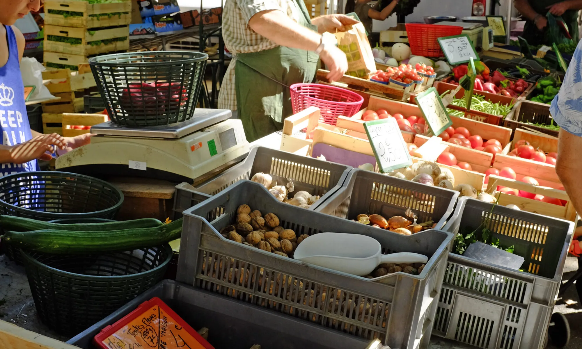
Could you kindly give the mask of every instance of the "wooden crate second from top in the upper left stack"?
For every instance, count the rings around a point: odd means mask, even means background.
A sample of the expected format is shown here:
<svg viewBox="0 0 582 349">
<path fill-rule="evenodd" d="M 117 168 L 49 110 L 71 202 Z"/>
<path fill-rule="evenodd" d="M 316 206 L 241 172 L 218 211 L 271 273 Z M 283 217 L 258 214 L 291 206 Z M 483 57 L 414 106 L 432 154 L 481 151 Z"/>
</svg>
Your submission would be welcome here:
<svg viewBox="0 0 582 349">
<path fill-rule="evenodd" d="M 49 36 L 75 38 L 80 44 L 49 40 Z M 123 38 L 122 41 L 113 41 L 108 44 L 91 45 L 91 42 L 113 40 Z M 107 52 L 129 50 L 129 26 L 87 30 L 86 28 L 74 28 L 63 26 L 44 26 L 44 49 L 49 52 L 61 52 L 63 54 L 93 56 Z M 87 62 L 87 59 L 84 60 Z"/>
</svg>

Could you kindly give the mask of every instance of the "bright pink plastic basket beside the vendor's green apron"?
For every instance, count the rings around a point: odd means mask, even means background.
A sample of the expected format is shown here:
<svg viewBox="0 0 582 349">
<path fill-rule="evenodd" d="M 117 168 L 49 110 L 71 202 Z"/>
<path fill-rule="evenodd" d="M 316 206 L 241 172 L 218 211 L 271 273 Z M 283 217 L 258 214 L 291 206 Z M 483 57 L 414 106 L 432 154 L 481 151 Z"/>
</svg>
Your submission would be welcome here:
<svg viewBox="0 0 582 349">
<path fill-rule="evenodd" d="M 338 116 L 350 117 L 360 111 L 364 97 L 345 88 L 322 84 L 293 84 L 291 103 L 293 113 L 310 106 L 321 110 L 320 121 L 335 126 Z"/>
</svg>

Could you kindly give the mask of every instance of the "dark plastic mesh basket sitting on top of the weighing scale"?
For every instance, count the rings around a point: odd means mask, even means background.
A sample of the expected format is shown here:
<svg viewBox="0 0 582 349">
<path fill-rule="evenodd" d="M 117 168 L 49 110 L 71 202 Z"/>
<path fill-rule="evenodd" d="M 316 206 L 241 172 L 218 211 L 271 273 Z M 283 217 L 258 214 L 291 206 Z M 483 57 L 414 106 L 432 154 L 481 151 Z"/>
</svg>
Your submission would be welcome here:
<svg viewBox="0 0 582 349">
<path fill-rule="evenodd" d="M 111 121 L 165 125 L 194 115 L 208 55 L 202 52 L 129 52 L 89 59 Z"/>
</svg>

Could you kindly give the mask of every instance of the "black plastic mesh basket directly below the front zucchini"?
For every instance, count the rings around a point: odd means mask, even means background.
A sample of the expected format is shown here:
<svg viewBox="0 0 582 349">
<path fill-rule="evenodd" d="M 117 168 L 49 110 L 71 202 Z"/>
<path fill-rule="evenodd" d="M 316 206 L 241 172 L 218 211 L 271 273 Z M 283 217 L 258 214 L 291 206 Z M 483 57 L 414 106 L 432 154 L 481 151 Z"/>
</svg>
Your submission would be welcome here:
<svg viewBox="0 0 582 349">
<path fill-rule="evenodd" d="M 162 279 L 169 244 L 95 255 L 51 255 L 20 250 L 42 323 L 74 336 Z"/>
</svg>

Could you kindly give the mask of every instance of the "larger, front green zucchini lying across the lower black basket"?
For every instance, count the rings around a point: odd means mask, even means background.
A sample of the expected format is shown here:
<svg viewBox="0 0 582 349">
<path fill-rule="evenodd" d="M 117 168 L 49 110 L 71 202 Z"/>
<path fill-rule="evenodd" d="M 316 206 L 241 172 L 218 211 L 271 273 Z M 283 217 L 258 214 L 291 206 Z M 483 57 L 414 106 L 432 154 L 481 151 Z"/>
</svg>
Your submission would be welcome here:
<svg viewBox="0 0 582 349">
<path fill-rule="evenodd" d="M 158 227 L 80 232 L 44 229 L 30 232 L 8 231 L 6 243 L 25 250 L 51 254 L 85 254 L 130 251 L 155 247 L 182 235 L 182 218 Z"/>
</svg>

